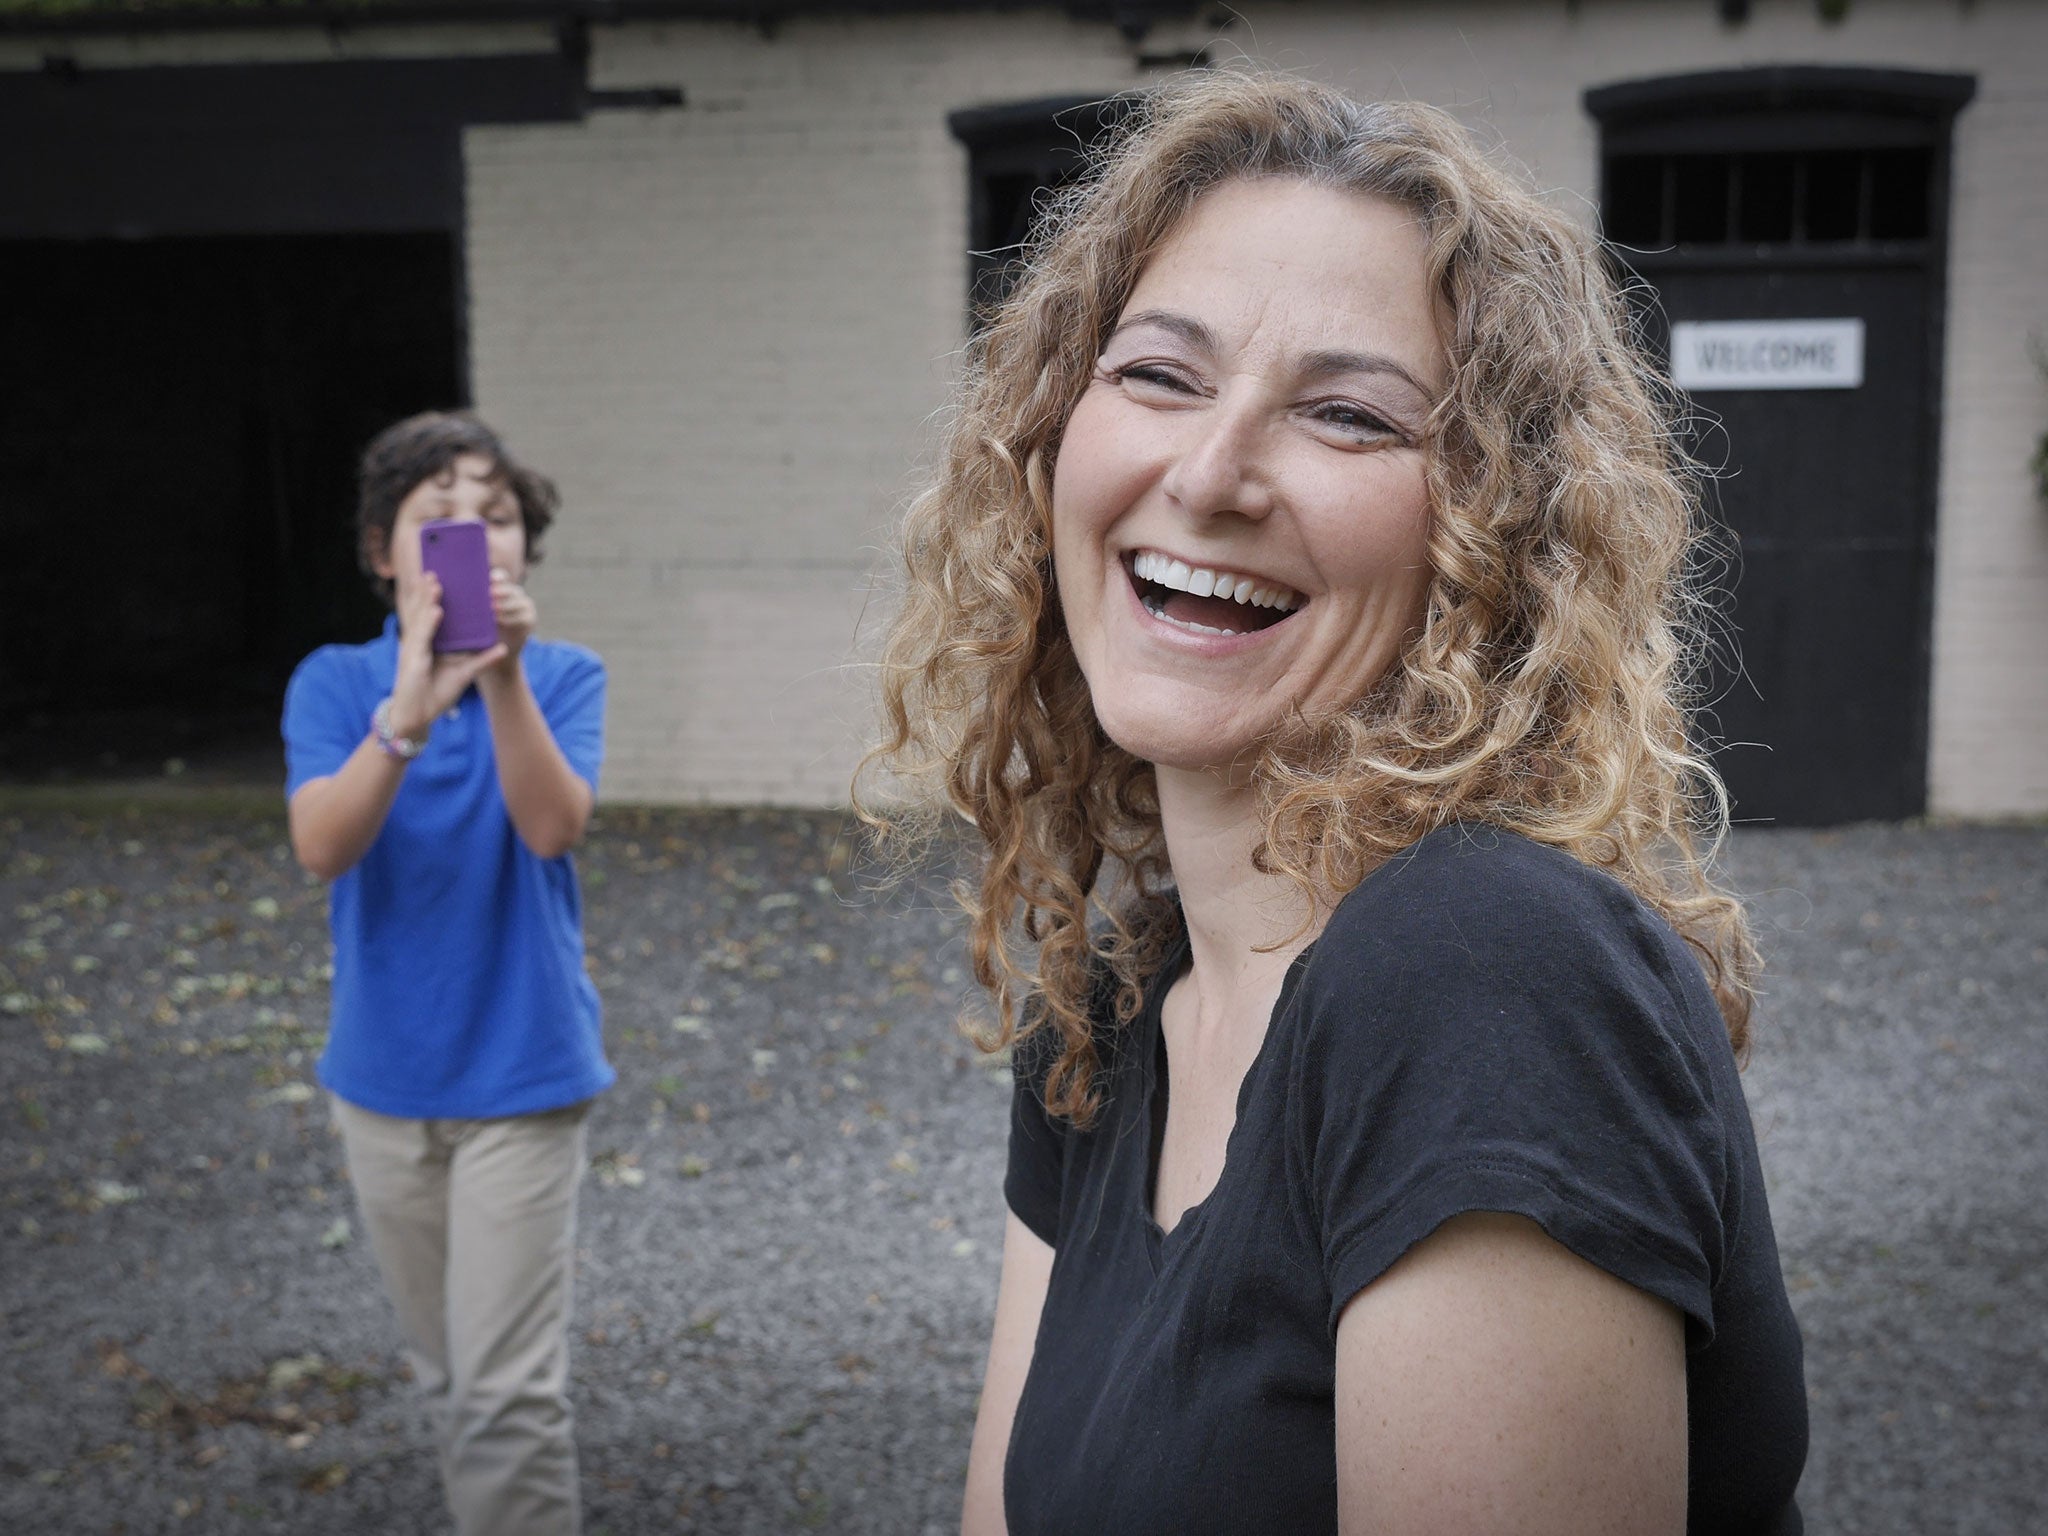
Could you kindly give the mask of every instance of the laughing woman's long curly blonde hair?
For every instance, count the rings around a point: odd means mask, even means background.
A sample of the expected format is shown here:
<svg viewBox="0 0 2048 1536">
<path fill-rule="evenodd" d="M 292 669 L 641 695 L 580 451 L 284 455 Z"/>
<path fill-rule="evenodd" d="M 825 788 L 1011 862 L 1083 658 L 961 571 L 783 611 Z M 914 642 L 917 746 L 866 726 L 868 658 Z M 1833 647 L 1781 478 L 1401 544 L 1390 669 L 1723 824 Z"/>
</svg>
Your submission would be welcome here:
<svg viewBox="0 0 2048 1536">
<path fill-rule="evenodd" d="M 942 465 L 905 520 L 885 729 L 856 805 L 885 838 L 950 809 L 985 842 L 979 887 L 961 887 L 995 1004 L 983 1042 L 1053 1032 L 1047 1106 L 1085 1124 L 1098 987 L 1114 977 L 1126 1022 L 1178 934 L 1153 770 L 1104 735 L 1067 643 L 1053 463 L 1145 262 L 1204 193 L 1268 176 L 1415 217 L 1450 385 L 1425 432 L 1427 614 L 1366 698 L 1296 711 L 1264 743 L 1260 866 L 1313 913 L 1452 819 L 1552 844 L 1688 938 L 1743 1051 L 1755 950 L 1706 874 L 1726 797 L 1688 743 L 1692 467 L 1599 246 L 1448 115 L 1255 72 L 1137 98 L 1047 209 L 967 348 Z M 868 793 L 877 768 L 891 788 Z M 903 788 L 909 807 L 879 809 Z"/>
</svg>

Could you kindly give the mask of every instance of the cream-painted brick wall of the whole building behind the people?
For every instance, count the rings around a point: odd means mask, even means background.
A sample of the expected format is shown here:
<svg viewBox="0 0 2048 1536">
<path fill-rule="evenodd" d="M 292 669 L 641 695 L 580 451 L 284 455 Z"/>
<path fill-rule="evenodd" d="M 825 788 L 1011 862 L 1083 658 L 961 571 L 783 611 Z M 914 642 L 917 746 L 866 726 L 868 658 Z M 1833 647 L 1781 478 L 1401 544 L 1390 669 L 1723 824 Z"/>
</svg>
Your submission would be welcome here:
<svg viewBox="0 0 2048 1536">
<path fill-rule="evenodd" d="M 1217 41 L 1356 94 L 1458 111 L 1589 217 L 1587 86 L 1745 63 L 1958 70 L 1935 557 L 1931 803 L 2048 811 L 2048 6 L 2038 0 L 1239 0 Z M 545 29 L 72 39 L 88 68 L 549 47 Z M 43 39 L 0 39 L 0 70 Z M 1114 29 L 1057 10 L 594 31 L 598 86 L 682 111 L 467 137 L 479 406 L 567 512 L 537 580 L 553 633 L 612 666 L 604 793 L 831 803 L 868 723 L 889 526 L 961 342 L 961 106 L 1141 84 Z"/>
</svg>

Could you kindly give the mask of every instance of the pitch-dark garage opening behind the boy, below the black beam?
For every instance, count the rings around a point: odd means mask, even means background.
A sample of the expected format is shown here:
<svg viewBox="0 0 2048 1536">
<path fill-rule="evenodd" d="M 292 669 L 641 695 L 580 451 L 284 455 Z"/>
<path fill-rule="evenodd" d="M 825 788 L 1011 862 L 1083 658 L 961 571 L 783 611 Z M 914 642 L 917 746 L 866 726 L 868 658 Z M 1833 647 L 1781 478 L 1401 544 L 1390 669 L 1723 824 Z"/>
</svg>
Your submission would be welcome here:
<svg viewBox="0 0 2048 1536">
<path fill-rule="evenodd" d="M 274 739 L 375 633 L 352 463 L 463 395 L 444 233 L 0 244 L 0 707 L 14 768 Z"/>
</svg>

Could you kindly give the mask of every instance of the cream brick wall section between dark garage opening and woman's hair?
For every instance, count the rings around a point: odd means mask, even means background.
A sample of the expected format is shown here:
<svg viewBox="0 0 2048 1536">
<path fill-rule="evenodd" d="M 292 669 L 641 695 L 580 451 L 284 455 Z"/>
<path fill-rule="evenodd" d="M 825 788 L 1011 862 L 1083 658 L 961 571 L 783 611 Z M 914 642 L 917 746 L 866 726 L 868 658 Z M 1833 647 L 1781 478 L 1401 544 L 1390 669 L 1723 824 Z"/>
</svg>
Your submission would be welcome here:
<svg viewBox="0 0 2048 1536">
<path fill-rule="evenodd" d="M 610 659 L 606 795 L 844 801 L 961 344 L 946 113 L 1137 76 L 1051 16 L 625 29 L 594 70 L 688 106 L 467 145 L 477 399 L 569 508 L 537 596 Z"/>
</svg>

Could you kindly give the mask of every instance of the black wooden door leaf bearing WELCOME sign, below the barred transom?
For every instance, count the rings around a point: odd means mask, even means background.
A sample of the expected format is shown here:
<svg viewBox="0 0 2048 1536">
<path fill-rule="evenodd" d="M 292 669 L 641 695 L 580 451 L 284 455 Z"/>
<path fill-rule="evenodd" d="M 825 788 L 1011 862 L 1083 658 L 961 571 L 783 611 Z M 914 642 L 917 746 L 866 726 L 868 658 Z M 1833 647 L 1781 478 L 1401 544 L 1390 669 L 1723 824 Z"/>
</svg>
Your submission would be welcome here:
<svg viewBox="0 0 2048 1536">
<path fill-rule="evenodd" d="M 1663 270 L 1673 322 L 1860 319 L 1855 387 L 1690 395 L 1731 565 L 1702 719 L 1737 821 L 1829 825 L 1925 805 L 1927 274 L 1913 266 Z"/>
</svg>

